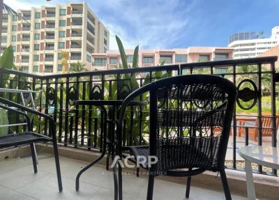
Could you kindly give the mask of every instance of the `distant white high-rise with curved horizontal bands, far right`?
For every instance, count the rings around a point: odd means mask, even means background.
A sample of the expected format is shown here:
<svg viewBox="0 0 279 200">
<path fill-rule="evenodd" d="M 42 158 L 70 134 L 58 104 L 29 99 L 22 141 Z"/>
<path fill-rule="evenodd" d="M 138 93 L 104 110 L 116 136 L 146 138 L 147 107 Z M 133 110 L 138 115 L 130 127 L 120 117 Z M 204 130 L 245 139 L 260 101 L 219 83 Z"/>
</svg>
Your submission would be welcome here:
<svg viewBox="0 0 279 200">
<path fill-rule="evenodd" d="M 279 26 L 273 27 L 270 38 L 254 32 L 237 33 L 229 37 L 229 48 L 234 48 L 234 59 L 257 57 L 279 44 Z"/>
</svg>

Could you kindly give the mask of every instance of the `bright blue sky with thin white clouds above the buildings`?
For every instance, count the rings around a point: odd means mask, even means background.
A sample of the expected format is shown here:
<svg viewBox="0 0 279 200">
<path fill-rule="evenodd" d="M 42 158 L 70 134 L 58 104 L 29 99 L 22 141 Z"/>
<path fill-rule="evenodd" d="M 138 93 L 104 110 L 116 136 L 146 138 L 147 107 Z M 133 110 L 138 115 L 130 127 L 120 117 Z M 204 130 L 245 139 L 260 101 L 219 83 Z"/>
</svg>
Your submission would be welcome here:
<svg viewBox="0 0 279 200">
<path fill-rule="evenodd" d="M 11 7 L 29 8 L 65 3 L 37 0 L 4 0 Z M 264 31 L 279 25 L 279 0 L 87 0 L 125 48 L 186 48 L 227 46 L 229 36 L 240 31 Z"/>
</svg>

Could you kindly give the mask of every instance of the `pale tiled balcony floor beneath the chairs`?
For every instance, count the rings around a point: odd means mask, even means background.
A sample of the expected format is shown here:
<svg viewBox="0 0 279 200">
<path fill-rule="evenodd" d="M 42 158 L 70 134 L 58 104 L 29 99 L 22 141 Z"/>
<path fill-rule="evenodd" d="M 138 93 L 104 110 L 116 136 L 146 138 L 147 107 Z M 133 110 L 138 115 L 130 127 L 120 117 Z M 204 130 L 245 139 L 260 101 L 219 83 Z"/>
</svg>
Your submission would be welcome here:
<svg viewBox="0 0 279 200">
<path fill-rule="evenodd" d="M 31 157 L 0 162 L 0 199 L 113 199 L 114 185 L 105 169 L 92 167 L 83 174 L 80 192 L 75 191 L 75 176 L 86 162 L 60 157 L 63 192 L 58 192 L 54 157 L 38 154 L 38 173 L 33 173 Z M 147 180 L 123 176 L 123 199 L 145 199 Z M 186 185 L 156 180 L 153 199 L 186 199 Z M 225 199 L 223 192 L 191 187 L 190 199 Z M 232 199 L 245 199 L 233 196 Z"/>
</svg>

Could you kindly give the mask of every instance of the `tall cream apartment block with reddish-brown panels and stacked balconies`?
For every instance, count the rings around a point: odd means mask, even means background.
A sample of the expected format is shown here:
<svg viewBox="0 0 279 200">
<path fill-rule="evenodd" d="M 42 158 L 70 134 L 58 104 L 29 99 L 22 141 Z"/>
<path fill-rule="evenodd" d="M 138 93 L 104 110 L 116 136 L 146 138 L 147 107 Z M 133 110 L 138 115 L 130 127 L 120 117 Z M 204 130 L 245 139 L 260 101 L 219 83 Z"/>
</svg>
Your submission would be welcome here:
<svg viewBox="0 0 279 200">
<path fill-rule="evenodd" d="M 20 17 L 3 15 L 1 51 L 9 45 L 15 66 L 29 73 L 61 73 L 60 52 L 68 52 L 68 66 L 92 66 L 92 53 L 107 52 L 110 32 L 86 3 L 18 10 Z"/>
</svg>

